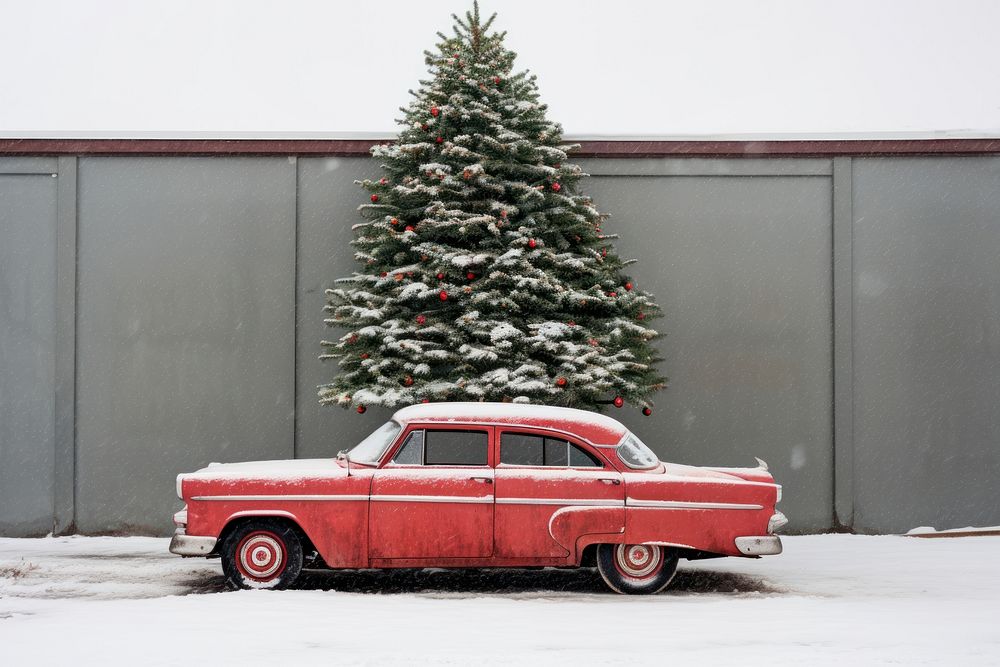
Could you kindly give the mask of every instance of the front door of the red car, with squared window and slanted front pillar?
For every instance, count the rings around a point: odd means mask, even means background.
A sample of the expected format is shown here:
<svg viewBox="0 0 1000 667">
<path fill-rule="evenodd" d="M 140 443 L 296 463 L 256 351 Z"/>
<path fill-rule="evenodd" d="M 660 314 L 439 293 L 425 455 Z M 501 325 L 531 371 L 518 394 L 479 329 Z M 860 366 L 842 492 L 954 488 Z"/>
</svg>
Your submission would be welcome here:
<svg viewBox="0 0 1000 667">
<path fill-rule="evenodd" d="M 373 476 L 371 558 L 490 557 L 492 439 L 489 427 L 411 425 Z"/>
</svg>

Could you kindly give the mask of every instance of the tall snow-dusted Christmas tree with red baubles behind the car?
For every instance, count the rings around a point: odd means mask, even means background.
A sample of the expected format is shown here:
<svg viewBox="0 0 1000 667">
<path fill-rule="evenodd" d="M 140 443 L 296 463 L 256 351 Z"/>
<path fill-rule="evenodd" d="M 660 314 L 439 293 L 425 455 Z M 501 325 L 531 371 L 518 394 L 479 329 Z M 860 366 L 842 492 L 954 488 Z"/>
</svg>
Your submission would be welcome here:
<svg viewBox="0 0 1000 667">
<path fill-rule="evenodd" d="M 327 290 L 341 372 L 320 401 L 514 401 L 650 413 L 660 314 L 623 272 L 536 79 L 478 3 L 425 52 L 383 177 L 355 226 L 360 271 Z"/>
</svg>

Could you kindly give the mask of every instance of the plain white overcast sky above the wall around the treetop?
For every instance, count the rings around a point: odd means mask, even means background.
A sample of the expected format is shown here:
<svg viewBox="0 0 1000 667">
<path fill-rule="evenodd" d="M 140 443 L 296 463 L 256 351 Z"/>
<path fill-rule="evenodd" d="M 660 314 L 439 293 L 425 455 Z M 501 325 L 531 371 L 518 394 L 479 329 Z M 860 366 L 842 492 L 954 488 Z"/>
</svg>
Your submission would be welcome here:
<svg viewBox="0 0 1000 667">
<path fill-rule="evenodd" d="M 0 0 L 0 136 L 395 131 L 471 0 Z M 575 137 L 1000 136 L 1000 1 L 484 0 Z"/>
</svg>

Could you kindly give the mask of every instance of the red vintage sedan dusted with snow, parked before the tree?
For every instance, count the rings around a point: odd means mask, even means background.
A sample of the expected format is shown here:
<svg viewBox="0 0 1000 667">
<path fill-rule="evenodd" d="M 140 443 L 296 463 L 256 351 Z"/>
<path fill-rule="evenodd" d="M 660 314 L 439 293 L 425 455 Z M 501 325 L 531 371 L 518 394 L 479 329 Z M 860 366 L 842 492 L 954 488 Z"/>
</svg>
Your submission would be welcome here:
<svg viewBox="0 0 1000 667">
<path fill-rule="evenodd" d="M 179 475 L 170 551 L 220 557 L 234 588 L 312 567 L 596 565 L 619 593 L 655 593 L 679 558 L 781 552 L 781 487 L 758 463 L 663 463 L 582 410 L 414 405 L 336 459 Z"/>
</svg>

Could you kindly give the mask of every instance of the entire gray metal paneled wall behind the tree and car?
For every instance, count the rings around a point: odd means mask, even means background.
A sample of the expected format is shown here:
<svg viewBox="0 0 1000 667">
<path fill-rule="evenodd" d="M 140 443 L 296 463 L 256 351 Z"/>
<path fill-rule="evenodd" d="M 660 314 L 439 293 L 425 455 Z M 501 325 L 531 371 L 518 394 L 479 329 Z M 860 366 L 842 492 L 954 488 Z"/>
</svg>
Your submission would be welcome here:
<svg viewBox="0 0 1000 667">
<path fill-rule="evenodd" d="M 615 417 L 670 460 L 767 459 L 799 531 L 1000 523 L 1000 158 L 582 162 L 667 313 L 670 388 Z M 380 423 L 315 400 L 376 168 L 0 160 L 0 533 L 165 533 L 176 473 Z"/>
</svg>

